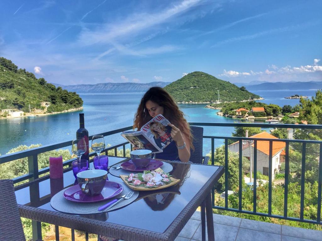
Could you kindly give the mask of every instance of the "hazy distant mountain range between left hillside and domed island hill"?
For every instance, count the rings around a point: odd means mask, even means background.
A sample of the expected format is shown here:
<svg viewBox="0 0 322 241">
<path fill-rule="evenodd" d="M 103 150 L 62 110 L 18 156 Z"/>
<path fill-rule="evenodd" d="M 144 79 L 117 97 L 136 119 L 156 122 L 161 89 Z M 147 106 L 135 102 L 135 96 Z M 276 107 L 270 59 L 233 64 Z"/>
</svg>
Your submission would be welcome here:
<svg viewBox="0 0 322 241">
<path fill-rule="evenodd" d="M 130 93 L 146 92 L 153 86 L 165 87 L 171 82 L 155 81 L 151 83 L 99 83 L 95 85 L 59 85 L 52 83 L 56 87 L 76 93 Z"/>
</svg>

